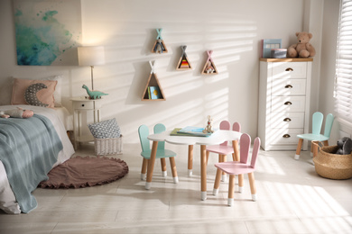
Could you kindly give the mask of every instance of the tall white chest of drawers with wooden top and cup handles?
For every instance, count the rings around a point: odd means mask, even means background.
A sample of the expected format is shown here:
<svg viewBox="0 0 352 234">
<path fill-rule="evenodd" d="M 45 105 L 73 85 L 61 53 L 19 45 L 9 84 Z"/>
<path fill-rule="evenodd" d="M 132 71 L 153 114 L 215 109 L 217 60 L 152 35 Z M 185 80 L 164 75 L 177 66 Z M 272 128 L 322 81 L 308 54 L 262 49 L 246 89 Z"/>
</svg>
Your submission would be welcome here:
<svg viewBox="0 0 352 234">
<path fill-rule="evenodd" d="M 295 150 L 297 134 L 309 132 L 312 60 L 260 58 L 258 136 L 264 150 Z"/>
</svg>

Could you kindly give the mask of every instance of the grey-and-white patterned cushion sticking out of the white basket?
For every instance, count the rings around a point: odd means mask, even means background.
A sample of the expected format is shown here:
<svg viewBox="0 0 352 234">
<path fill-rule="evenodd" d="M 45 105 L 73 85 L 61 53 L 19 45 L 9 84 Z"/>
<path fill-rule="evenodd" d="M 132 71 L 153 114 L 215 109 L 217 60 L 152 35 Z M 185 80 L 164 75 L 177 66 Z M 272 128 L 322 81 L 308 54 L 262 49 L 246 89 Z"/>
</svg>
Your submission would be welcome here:
<svg viewBox="0 0 352 234">
<path fill-rule="evenodd" d="M 121 135 L 116 119 L 91 123 L 88 128 L 97 139 L 119 138 Z"/>
</svg>

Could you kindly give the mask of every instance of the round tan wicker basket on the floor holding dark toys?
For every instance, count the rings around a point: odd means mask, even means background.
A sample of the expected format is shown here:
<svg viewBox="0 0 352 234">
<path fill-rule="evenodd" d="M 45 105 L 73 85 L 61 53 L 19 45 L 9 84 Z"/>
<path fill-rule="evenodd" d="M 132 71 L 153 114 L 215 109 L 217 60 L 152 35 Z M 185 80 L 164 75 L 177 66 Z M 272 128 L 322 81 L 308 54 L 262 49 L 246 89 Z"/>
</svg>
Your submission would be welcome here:
<svg viewBox="0 0 352 234">
<path fill-rule="evenodd" d="M 338 146 L 321 147 L 318 155 L 313 157 L 315 171 L 318 175 L 329 179 L 352 178 L 352 154 L 334 154 L 337 150 Z"/>
</svg>

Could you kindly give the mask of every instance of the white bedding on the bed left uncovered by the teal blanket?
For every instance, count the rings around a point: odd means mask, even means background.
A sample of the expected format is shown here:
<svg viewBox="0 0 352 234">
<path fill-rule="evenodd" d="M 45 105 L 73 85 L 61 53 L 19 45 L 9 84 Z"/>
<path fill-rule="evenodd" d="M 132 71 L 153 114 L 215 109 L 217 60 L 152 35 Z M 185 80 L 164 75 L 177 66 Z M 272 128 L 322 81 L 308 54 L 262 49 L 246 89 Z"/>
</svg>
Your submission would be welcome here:
<svg viewBox="0 0 352 234">
<path fill-rule="evenodd" d="M 3 105 L 0 106 L 0 111 L 14 109 L 16 107 L 21 107 L 23 109 L 30 109 L 36 114 L 41 114 L 47 117 L 53 124 L 55 130 L 57 131 L 61 143 L 63 145 L 62 150 L 59 152 L 58 160 L 54 166 L 65 162 L 74 154 L 74 148 L 67 135 L 67 130 L 72 130 L 72 117 L 70 117 L 69 112 L 66 108 L 60 107 L 56 109 L 44 108 L 40 106 L 32 105 Z M 52 166 L 52 167 L 54 167 Z M 0 209 L 6 213 L 21 213 L 21 209 L 15 200 L 14 193 L 8 182 L 5 166 L 0 161 Z"/>
</svg>

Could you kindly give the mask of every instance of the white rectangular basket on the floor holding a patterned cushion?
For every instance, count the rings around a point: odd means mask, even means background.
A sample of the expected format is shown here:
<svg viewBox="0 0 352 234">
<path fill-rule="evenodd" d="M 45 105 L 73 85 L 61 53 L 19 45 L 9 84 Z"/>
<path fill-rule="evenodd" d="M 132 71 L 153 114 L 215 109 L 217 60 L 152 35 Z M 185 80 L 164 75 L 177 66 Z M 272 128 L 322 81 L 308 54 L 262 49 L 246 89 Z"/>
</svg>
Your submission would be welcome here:
<svg viewBox="0 0 352 234">
<path fill-rule="evenodd" d="M 120 155 L 123 151 L 122 135 L 119 138 L 94 139 L 96 155 Z"/>
</svg>

